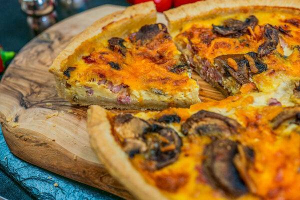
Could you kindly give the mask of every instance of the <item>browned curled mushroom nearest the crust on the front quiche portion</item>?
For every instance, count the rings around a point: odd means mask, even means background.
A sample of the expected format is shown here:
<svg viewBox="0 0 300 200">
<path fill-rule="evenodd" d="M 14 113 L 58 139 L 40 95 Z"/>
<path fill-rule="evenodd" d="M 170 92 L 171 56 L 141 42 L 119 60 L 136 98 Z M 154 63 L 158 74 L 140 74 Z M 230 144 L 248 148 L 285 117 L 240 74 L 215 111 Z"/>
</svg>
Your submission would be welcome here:
<svg viewBox="0 0 300 200">
<path fill-rule="evenodd" d="M 165 119 L 177 120 L 177 117 Z M 132 114 L 119 114 L 114 117 L 113 129 L 129 157 L 142 153 L 149 170 L 173 163 L 179 156 L 182 145 L 180 136 L 174 129 L 154 120 L 145 121 Z"/>
</svg>

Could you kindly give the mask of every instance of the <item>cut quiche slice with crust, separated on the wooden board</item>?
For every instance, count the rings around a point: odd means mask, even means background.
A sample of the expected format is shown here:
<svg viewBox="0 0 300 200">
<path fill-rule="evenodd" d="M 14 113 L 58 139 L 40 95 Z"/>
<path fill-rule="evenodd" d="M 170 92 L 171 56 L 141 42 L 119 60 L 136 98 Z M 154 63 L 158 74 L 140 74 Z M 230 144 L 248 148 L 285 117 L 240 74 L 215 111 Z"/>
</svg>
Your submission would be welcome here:
<svg viewBox="0 0 300 200">
<path fill-rule="evenodd" d="M 73 104 L 162 109 L 199 102 L 185 57 L 167 28 L 155 23 L 153 2 L 105 16 L 62 50 L 49 71 Z"/>
</svg>

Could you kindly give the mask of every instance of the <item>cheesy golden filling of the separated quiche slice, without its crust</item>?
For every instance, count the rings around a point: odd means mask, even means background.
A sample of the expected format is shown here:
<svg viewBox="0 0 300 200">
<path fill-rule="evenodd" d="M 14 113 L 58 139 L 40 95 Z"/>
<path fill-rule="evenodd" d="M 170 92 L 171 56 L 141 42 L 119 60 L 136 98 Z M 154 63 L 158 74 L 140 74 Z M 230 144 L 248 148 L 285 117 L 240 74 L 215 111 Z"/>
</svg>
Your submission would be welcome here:
<svg viewBox="0 0 300 200">
<path fill-rule="evenodd" d="M 104 96 L 120 104 L 199 101 L 198 85 L 164 24 L 144 25 L 125 38 L 94 37 L 77 49 L 83 53 L 74 53 L 61 66 L 74 102 L 80 95 Z"/>
</svg>

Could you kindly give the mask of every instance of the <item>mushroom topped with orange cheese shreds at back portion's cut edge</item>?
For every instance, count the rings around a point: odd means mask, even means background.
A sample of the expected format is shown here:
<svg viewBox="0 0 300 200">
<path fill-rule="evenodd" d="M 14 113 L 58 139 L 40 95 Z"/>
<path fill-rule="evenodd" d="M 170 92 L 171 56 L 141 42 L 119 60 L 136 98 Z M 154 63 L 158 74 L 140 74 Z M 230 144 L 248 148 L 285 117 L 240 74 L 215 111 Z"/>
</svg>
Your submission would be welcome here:
<svg viewBox="0 0 300 200">
<path fill-rule="evenodd" d="M 261 73 L 267 69 L 266 64 L 255 52 L 220 55 L 213 60 L 217 67 L 225 69 L 240 84 L 250 82 L 251 74 Z"/>
</svg>

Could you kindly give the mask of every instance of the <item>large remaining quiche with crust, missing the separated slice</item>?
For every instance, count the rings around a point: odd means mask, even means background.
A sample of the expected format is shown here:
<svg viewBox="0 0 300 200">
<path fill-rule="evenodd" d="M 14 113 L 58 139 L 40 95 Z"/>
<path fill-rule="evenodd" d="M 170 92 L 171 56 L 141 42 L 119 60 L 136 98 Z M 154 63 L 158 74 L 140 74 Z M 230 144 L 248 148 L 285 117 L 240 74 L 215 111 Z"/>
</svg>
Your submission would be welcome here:
<svg viewBox="0 0 300 200">
<path fill-rule="evenodd" d="M 300 199 L 300 2 L 207 0 L 164 12 L 189 65 L 227 98 L 87 111 L 91 145 L 138 199 Z"/>
</svg>

